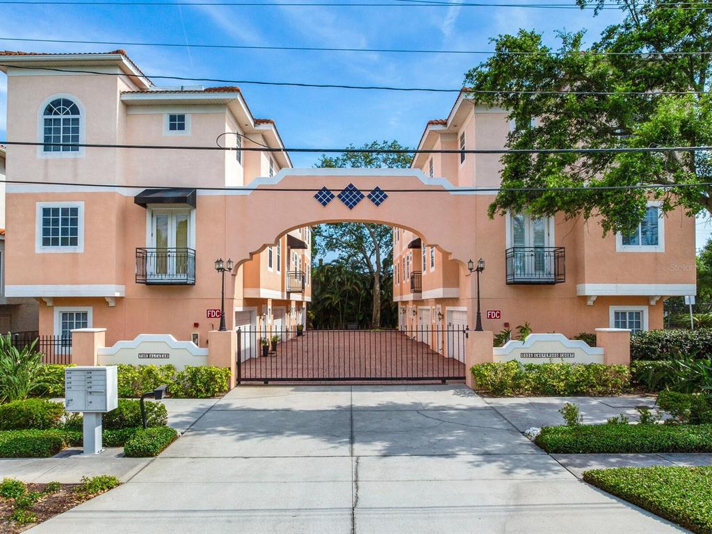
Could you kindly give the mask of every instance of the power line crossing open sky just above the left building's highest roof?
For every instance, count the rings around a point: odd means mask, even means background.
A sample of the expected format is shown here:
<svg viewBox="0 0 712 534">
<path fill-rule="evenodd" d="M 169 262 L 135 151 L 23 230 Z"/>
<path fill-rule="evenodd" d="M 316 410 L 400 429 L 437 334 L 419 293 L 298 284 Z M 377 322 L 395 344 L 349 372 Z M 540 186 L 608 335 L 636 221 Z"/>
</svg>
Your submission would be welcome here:
<svg viewBox="0 0 712 534">
<path fill-rule="evenodd" d="M 93 44 L 111 46 L 162 46 L 168 48 L 216 48 L 228 50 L 274 50 L 274 51 L 312 51 L 312 52 L 371 52 L 371 53 L 419 53 L 419 54 L 464 54 L 493 56 L 641 56 L 656 58 L 659 56 L 710 56 L 712 51 L 699 52 L 596 52 L 596 51 L 486 51 L 486 50 L 436 50 L 427 48 L 342 48 L 330 46 L 251 46 L 226 45 L 208 43 L 151 43 L 145 41 L 80 41 L 76 39 L 32 39 L 21 37 L 0 37 L 0 41 L 21 41 L 26 43 L 63 43 L 63 44 Z"/>
</svg>

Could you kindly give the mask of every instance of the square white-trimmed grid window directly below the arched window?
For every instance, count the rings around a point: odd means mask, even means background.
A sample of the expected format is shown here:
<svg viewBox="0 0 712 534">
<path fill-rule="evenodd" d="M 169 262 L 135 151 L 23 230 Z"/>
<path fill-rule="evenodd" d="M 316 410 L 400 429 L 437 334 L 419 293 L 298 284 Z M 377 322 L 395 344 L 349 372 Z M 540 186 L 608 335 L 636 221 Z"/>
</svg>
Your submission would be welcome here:
<svg viewBox="0 0 712 534">
<path fill-rule="evenodd" d="M 35 252 L 84 251 L 84 202 L 37 202 Z"/>
</svg>

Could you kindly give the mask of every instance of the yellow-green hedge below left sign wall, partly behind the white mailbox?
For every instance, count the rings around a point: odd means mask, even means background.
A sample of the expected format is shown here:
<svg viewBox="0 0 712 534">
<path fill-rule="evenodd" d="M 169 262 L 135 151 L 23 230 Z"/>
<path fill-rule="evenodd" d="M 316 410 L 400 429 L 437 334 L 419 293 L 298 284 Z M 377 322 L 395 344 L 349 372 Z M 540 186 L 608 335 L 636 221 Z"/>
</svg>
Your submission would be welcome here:
<svg viewBox="0 0 712 534">
<path fill-rule="evenodd" d="M 37 397 L 64 397 L 66 365 L 43 365 L 45 385 Z M 204 399 L 227 392 L 230 370 L 226 367 L 199 365 L 178 372 L 173 365 L 117 365 L 119 397 L 140 397 L 145 392 L 167 384 L 168 394 L 176 398 Z"/>
</svg>

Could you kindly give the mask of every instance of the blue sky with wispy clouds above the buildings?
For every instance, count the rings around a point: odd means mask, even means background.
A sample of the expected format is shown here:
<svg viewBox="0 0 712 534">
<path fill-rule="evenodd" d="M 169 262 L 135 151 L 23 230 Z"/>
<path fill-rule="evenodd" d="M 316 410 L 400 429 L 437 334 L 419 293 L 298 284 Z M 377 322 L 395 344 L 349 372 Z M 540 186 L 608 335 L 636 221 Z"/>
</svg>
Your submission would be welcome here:
<svg viewBox="0 0 712 534">
<path fill-rule="evenodd" d="M 543 32 L 552 45 L 557 42 L 557 29 L 587 28 L 588 41 L 592 42 L 602 28 L 621 18 L 619 11 L 603 11 L 595 17 L 592 11 L 577 9 L 518 7 L 2 5 L 0 37 L 490 50 L 489 38 L 515 33 L 519 28 Z M 109 51 L 118 46 L 0 41 L 0 48 L 88 52 Z M 439 88 L 459 88 L 464 73 L 484 57 L 231 51 L 187 46 L 122 48 L 148 75 Z M 157 83 L 171 85 L 169 80 Z M 243 85 L 242 90 L 256 117 L 276 120 L 284 142 L 293 147 L 343 147 L 392 139 L 414 146 L 425 122 L 446 117 L 455 98 L 448 93 L 255 85 Z M 0 139 L 5 138 L 5 117 L 6 80 L 0 74 Z M 316 155 L 293 155 L 297 167 L 310 167 L 316 159 Z M 712 233 L 712 226 L 701 223 L 697 228 L 698 241 L 703 243 Z"/>
</svg>

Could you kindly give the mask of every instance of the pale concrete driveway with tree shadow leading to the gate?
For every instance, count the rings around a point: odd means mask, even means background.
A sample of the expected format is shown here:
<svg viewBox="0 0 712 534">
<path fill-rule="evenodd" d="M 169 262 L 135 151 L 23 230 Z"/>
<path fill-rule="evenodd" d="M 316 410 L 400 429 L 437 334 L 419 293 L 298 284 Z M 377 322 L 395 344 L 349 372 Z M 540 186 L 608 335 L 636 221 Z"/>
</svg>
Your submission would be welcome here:
<svg viewBox="0 0 712 534">
<path fill-rule="evenodd" d="M 579 481 L 459 385 L 239 387 L 32 533 L 684 532 Z"/>
</svg>

